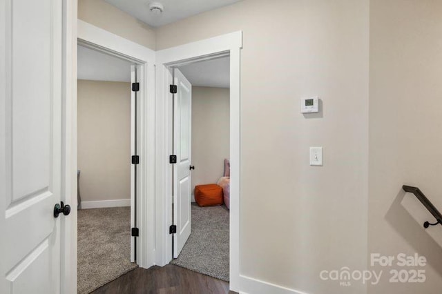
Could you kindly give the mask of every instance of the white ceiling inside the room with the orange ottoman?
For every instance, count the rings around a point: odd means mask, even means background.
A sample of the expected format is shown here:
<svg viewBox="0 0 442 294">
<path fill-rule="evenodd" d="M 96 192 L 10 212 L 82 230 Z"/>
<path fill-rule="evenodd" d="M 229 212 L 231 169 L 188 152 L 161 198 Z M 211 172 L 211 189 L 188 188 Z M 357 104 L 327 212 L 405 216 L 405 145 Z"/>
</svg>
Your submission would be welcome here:
<svg viewBox="0 0 442 294">
<path fill-rule="evenodd" d="M 180 66 L 180 71 L 192 86 L 229 88 L 230 57 Z"/>
</svg>

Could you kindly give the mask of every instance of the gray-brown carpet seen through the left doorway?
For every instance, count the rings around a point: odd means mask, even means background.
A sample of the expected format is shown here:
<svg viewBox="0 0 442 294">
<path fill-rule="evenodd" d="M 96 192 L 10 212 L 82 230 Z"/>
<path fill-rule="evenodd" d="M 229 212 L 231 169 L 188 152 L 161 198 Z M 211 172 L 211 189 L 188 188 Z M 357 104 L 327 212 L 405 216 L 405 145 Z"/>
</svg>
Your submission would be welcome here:
<svg viewBox="0 0 442 294">
<path fill-rule="evenodd" d="M 137 268 L 131 263 L 131 208 L 78 210 L 78 293 Z"/>
</svg>

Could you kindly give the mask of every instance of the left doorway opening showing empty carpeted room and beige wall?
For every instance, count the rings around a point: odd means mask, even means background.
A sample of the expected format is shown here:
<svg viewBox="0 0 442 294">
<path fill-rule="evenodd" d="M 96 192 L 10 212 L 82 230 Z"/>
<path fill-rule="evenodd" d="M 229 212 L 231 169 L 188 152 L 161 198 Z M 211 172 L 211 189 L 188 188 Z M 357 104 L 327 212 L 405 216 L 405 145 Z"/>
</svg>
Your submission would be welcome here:
<svg viewBox="0 0 442 294">
<path fill-rule="evenodd" d="M 77 289 L 137 268 L 137 67 L 77 48 Z"/>
</svg>

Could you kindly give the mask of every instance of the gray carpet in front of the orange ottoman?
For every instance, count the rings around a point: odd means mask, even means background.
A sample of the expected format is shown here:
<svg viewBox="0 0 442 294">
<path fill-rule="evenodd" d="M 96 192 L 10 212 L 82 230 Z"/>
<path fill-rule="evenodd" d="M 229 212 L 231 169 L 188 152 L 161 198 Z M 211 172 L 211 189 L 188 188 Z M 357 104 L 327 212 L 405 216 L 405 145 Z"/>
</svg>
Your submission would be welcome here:
<svg viewBox="0 0 442 294">
<path fill-rule="evenodd" d="M 192 204 L 192 233 L 171 264 L 229 282 L 229 210 Z"/>
</svg>

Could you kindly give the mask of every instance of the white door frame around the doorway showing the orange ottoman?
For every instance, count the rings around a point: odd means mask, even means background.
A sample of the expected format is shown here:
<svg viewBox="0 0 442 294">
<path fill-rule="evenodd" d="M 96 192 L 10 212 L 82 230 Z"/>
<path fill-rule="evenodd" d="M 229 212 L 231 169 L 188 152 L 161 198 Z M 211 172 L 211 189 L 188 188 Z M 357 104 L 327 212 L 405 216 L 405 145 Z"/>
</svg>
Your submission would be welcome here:
<svg viewBox="0 0 442 294">
<path fill-rule="evenodd" d="M 156 263 L 169 264 L 172 259 L 172 168 L 169 155 L 172 148 L 171 109 L 172 96 L 169 93 L 169 66 L 193 61 L 230 56 L 230 289 L 240 287 L 240 50 L 242 32 L 213 37 L 187 43 L 156 52 Z"/>
</svg>

